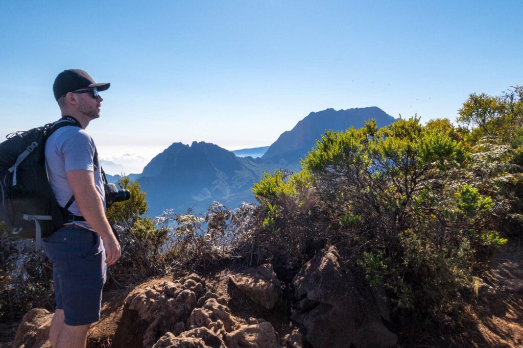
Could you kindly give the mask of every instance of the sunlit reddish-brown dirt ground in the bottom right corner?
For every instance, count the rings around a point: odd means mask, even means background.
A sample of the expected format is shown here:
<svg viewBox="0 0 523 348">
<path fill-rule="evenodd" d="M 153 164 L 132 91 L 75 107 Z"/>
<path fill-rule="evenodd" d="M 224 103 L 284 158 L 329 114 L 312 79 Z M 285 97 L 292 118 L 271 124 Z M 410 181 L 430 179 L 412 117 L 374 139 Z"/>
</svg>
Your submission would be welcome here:
<svg viewBox="0 0 523 348">
<path fill-rule="evenodd" d="M 496 252 L 490 267 L 482 274 L 483 282 L 491 285 L 494 298 L 476 298 L 464 306 L 450 326 L 434 325 L 423 329 L 423 337 L 401 347 L 523 347 L 523 293 L 507 291 L 507 281 L 523 279 L 523 240 L 511 239 Z M 427 332 L 428 331 L 428 332 Z M 415 338 L 416 335 L 411 335 Z"/>
</svg>

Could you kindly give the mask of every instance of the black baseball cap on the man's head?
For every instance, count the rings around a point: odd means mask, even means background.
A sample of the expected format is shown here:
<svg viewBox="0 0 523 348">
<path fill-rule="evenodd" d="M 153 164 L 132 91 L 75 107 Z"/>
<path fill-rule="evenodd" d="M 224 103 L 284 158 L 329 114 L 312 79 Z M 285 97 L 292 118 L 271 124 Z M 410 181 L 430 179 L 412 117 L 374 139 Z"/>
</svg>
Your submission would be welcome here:
<svg viewBox="0 0 523 348">
<path fill-rule="evenodd" d="M 67 92 L 72 92 L 82 88 L 96 87 L 98 91 L 103 91 L 111 86 L 108 82 L 97 84 L 95 80 L 82 69 L 64 70 L 54 79 L 53 93 L 54 99 L 58 100 Z"/>
</svg>

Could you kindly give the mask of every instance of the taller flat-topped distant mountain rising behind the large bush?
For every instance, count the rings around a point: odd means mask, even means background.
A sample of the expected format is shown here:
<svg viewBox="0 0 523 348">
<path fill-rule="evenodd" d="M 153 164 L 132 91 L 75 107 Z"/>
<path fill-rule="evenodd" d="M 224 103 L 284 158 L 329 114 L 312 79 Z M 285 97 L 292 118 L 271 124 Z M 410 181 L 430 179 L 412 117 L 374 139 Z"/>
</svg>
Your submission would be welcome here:
<svg viewBox="0 0 523 348">
<path fill-rule="evenodd" d="M 307 117 L 298 122 L 290 131 L 283 132 L 278 140 L 270 145 L 262 158 L 285 159 L 289 163 L 295 163 L 305 157 L 316 140 L 326 130 L 346 130 L 350 126 L 356 128 L 365 125 L 365 121 L 376 119 L 379 127 L 386 126 L 395 119 L 378 107 L 356 108 L 348 110 L 326 109 L 319 112 L 311 112 Z"/>
</svg>

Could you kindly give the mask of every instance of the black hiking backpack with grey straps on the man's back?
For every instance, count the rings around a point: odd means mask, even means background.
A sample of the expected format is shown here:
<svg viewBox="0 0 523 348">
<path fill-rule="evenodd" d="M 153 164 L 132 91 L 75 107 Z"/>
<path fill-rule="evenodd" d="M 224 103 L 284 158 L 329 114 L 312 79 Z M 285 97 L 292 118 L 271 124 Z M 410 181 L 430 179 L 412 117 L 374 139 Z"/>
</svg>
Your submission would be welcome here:
<svg viewBox="0 0 523 348">
<path fill-rule="evenodd" d="M 36 239 L 51 235 L 64 223 L 85 221 L 61 207 L 47 175 L 45 145 L 49 136 L 63 126 L 81 125 L 72 117 L 26 132 L 10 133 L 0 143 L 0 221 L 13 239 Z"/>
</svg>

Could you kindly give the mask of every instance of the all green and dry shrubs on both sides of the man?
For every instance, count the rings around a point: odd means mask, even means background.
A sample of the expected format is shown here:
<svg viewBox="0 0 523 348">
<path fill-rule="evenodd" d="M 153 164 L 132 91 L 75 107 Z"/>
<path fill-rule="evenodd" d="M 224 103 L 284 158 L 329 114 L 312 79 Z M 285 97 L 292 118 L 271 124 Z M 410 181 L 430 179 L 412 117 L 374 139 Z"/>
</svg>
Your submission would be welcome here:
<svg viewBox="0 0 523 348">
<path fill-rule="evenodd" d="M 231 261 L 270 262 L 290 283 L 314 253 L 336 245 L 346 268 L 388 291 L 396 313 L 417 320 L 459 310 L 457 294 L 470 294 L 493 252 L 521 234 L 522 96 L 523 87 L 472 94 L 458 126 L 413 117 L 327 131 L 300 172 L 265 173 L 253 187 L 259 204 L 234 211 L 214 203 L 202 216 L 153 219 L 139 183 L 124 177 L 131 199 L 107 211 L 122 245 L 108 286 Z M 51 307 L 49 265 L 35 262 L 43 254 L 19 262 L 16 245 L 2 243 L 2 320 Z"/>
</svg>

